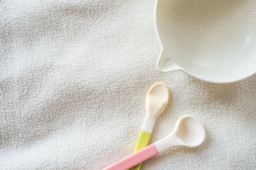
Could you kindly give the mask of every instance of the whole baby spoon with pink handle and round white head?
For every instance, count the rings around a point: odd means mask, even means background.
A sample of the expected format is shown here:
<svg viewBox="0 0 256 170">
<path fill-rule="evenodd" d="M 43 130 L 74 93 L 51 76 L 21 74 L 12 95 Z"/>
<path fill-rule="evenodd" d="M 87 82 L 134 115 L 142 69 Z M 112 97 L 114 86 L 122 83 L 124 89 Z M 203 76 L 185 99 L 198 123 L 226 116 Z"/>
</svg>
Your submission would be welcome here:
<svg viewBox="0 0 256 170">
<path fill-rule="evenodd" d="M 205 131 L 202 124 L 200 124 L 196 117 L 186 115 L 179 118 L 173 131 L 168 136 L 133 153 L 129 157 L 119 160 L 105 169 L 129 169 L 130 167 L 140 164 L 141 162 L 154 157 L 154 155 L 163 152 L 163 150 L 166 150 L 170 146 L 181 145 L 193 148 L 201 145 L 204 139 Z"/>
</svg>

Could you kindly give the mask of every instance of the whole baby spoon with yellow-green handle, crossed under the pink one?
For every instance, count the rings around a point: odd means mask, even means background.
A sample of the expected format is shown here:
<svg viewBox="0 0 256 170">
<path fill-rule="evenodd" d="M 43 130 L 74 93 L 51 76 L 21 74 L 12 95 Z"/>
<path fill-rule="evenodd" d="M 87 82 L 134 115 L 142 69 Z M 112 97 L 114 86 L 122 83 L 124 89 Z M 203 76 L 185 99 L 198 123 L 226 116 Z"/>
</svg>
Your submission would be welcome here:
<svg viewBox="0 0 256 170">
<path fill-rule="evenodd" d="M 164 83 L 155 83 L 148 90 L 145 108 L 146 116 L 141 127 L 140 135 L 137 140 L 134 152 L 145 148 L 148 145 L 156 118 L 164 111 L 169 99 L 169 90 Z M 141 164 L 132 167 L 132 170 L 139 170 Z"/>
</svg>

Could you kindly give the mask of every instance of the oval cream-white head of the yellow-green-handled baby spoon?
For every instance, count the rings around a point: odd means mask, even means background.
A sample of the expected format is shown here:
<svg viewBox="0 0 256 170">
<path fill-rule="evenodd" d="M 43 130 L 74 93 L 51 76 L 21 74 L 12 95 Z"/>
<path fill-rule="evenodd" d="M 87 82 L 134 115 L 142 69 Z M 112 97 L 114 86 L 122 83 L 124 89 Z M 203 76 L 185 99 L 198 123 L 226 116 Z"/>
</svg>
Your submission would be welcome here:
<svg viewBox="0 0 256 170">
<path fill-rule="evenodd" d="M 145 101 L 148 117 L 156 119 L 166 108 L 169 90 L 166 84 L 156 83 L 150 87 Z"/>
</svg>

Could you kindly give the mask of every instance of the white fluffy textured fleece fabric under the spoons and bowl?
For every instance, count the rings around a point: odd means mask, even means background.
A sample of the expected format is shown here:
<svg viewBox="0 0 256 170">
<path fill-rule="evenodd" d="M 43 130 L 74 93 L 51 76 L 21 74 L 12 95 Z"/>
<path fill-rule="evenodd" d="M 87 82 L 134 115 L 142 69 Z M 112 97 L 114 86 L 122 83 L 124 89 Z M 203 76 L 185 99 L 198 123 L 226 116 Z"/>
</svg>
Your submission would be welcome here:
<svg viewBox="0 0 256 170">
<path fill-rule="evenodd" d="M 205 127 L 141 169 L 256 169 L 256 76 L 227 85 L 156 69 L 154 1 L 0 1 L 0 169 L 101 169 L 131 154 L 145 96 L 170 102 L 150 143 L 177 118 Z"/>
</svg>

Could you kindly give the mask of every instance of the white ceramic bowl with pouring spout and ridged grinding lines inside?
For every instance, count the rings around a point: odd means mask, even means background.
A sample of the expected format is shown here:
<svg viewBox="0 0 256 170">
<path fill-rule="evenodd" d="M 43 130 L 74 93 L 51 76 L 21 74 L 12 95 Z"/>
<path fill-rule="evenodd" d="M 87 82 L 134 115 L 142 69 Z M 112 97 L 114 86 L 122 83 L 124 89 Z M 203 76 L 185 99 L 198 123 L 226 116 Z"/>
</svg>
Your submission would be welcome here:
<svg viewBox="0 0 256 170">
<path fill-rule="evenodd" d="M 230 83 L 256 73 L 255 0 L 157 0 L 161 71 Z"/>
</svg>

